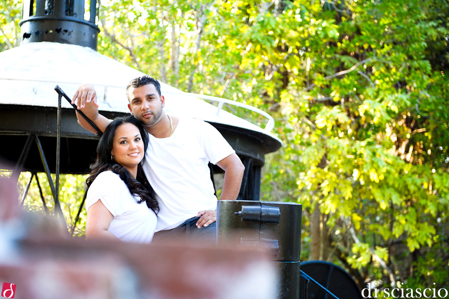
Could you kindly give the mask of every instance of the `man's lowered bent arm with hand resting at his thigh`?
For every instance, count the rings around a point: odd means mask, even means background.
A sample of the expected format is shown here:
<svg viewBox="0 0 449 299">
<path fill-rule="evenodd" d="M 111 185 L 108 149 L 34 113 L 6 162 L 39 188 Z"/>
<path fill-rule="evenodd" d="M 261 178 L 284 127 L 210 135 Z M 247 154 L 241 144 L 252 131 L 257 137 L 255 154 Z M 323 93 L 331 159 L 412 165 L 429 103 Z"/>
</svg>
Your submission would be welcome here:
<svg viewBox="0 0 449 299">
<path fill-rule="evenodd" d="M 241 163 L 240 158 L 234 153 L 227 156 L 225 159 L 220 160 L 217 163 L 220 168 L 225 171 L 225 180 L 223 181 L 222 195 L 220 200 L 235 200 L 237 199 L 238 192 L 240 192 L 241 179 L 243 178 L 243 172 L 245 167 Z M 197 227 L 208 226 L 217 220 L 217 211 L 208 210 L 198 212 L 198 216 L 201 216 L 197 221 Z"/>
</svg>

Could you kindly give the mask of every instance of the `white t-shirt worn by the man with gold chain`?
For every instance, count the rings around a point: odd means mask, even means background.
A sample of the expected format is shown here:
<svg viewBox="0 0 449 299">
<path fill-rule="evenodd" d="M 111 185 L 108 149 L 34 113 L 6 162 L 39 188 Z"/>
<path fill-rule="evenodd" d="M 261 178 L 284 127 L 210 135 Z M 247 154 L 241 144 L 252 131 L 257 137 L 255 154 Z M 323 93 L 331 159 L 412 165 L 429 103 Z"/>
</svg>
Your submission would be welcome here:
<svg viewBox="0 0 449 299">
<path fill-rule="evenodd" d="M 222 134 L 205 121 L 180 118 L 172 136 L 149 136 L 143 169 L 158 195 L 156 231 L 175 228 L 199 211 L 216 210 L 208 164 L 235 153 Z"/>
</svg>

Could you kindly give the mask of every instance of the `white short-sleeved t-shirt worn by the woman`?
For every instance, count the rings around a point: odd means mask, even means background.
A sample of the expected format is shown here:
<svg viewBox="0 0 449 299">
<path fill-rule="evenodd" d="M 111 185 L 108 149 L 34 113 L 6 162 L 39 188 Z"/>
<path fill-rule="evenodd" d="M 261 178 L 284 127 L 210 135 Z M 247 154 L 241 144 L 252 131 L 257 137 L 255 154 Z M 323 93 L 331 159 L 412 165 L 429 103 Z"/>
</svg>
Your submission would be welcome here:
<svg viewBox="0 0 449 299">
<path fill-rule="evenodd" d="M 86 210 L 101 200 L 114 216 L 108 231 L 124 242 L 150 243 L 156 229 L 156 214 L 140 197 L 129 192 L 125 182 L 112 171 L 100 173 L 87 191 Z"/>
</svg>

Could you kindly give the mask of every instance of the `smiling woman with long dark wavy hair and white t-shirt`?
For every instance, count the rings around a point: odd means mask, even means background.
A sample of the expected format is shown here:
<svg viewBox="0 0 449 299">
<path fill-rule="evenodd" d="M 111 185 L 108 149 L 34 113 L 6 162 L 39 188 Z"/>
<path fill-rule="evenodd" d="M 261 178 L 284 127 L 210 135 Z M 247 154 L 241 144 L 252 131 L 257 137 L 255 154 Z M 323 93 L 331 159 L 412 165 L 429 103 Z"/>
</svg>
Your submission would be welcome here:
<svg viewBox="0 0 449 299">
<path fill-rule="evenodd" d="M 151 242 L 159 206 L 141 165 L 147 134 L 133 116 L 114 119 L 104 131 L 86 180 L 87 239 Z"/>
</svg>

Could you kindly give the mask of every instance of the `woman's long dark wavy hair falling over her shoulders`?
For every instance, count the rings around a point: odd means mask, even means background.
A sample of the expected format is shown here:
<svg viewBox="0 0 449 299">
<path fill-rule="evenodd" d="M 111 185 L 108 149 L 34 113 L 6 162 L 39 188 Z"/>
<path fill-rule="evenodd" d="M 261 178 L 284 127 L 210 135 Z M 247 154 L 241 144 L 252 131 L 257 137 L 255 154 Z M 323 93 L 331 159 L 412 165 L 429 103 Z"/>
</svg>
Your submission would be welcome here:
<svg viewBox="0 0 449 299">
<path fill-rule="evenodd" d="M 120 125 L 130 123 L 135 125 L 139 131 L 142 141 L 144 142 L 144 157 L 142 161 L 137 166 L 137 177 L 134 178 L 133 175 L 117 162 L 111 159 L 111 150 L 114 141 L 114 136 L 117 128 Z M 146 202 L 148 208 L 153 210 L 156 214 L 159 212 L 159 205 L 156 200 L 156 193 L 148 182 L 145 173 L 142 168 L 142 164 L 145 162 L 145 153 L 147 152 L 148 133 L 144 126 L 136 119 L 134 116 L 129 115 L 125 117 L 117 117 L 114 119 L 109 126 L 104 130 L 103 136 L 101 136 L 100 141 L 97 145 L 97 158 L 93 164 L 90 165 L 90 175 L 86 179 L 87 187 L 89 187 L 95 178 L 103 171 L 111 170 L 112 172 L 118 174 L 120 178 L 125 182 L 126 186 L 134 196 L 139 196 L 140 201 L 138 203 Z"/>
</svg>

